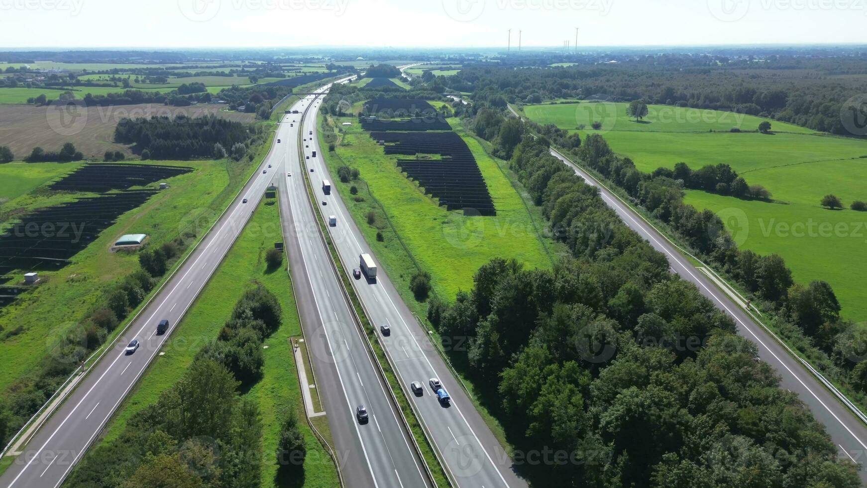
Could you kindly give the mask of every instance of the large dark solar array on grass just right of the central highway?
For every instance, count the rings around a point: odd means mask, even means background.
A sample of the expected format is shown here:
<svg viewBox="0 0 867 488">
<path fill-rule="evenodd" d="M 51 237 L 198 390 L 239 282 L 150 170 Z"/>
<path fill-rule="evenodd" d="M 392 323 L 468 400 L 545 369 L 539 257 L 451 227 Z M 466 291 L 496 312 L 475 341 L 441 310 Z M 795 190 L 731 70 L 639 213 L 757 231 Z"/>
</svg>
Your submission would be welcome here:
<svg viewBox="0 0 867 488">
<path fill-rule="evenodd" d="M 457 133 L 371 132 L 370 137 L 385 142 L 386 154 L 439 154 L 442 159 L 398 159 L 397 166 L 448 210 L 497 214 L 473 152 Z"/>
</svg>

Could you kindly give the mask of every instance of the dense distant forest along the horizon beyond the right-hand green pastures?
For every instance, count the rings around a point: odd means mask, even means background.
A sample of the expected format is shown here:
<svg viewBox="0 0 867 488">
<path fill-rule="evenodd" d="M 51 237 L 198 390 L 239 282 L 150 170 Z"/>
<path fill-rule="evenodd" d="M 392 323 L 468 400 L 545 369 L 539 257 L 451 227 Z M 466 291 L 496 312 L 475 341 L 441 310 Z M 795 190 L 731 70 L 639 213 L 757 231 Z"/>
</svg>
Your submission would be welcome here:
<svg viewBox="0 0 867 488">
<path fill-rule="evenodd" d="M 493 107 L 557 99 L 644 100 L 771 117 L 818 131 L 847 134 L 841 111 L 867 87 L 867 59 L 644 55 L 622 62 L 562 68 L 492 68 L 477 64 L 438 77 Z M 847 105 L 848 104 L 848 105 Z"/>
</svg>

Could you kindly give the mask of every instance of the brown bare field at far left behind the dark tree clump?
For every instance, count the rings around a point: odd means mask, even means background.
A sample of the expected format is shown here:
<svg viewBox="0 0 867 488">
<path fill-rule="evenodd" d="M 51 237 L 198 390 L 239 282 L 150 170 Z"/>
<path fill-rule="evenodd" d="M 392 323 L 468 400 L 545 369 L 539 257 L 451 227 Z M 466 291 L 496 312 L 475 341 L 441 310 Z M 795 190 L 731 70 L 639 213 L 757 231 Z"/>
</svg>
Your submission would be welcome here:
<svg viewBox="0 0 867 488">
<path fill-rule="evenodd" d="M 252 122 L 255 118 L 255 114 L 230 112 L 223 108 L 225 105 L 216 104 L 190 107 L 169 107 L 155 103 L 115 107 L 0 104 L 0 145 L 9 146 L 16 159 L 25 158 L 36 146 L 46 151 L 57 151 L 66 142 L 75 144 L 75 148 L 85 157 L 101 157 L 106 151 L 132 155 L 128 146 L 114 142 L 114 127 L 124 118 L 177 114 L 190 117 L 217 114 L 240 122 Z"/>
</svg>

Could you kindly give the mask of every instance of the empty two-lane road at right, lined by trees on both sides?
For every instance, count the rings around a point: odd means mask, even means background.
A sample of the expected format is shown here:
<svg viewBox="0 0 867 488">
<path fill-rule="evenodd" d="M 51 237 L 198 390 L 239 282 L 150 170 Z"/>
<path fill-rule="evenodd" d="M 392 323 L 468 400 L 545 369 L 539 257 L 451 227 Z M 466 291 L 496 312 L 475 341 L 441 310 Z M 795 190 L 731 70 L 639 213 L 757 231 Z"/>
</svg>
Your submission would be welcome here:
<svg viewBox="0 0 867 488">
<path fill-rule="evenodd" d="M 684 257 L 680 251 L 671 244 L 662 233 L 648 224 L 636 211 L 617 198 L 608 188 L 600 185 L 589 173 L 583 171 L 570 159 L 565 158 L 557 151 L 551 150 L 551 154 L 570 166 L 578 176 L 588 184 L 596 186 L 607 205 L 609 205 L 630 229 L 644 237 L 656 251 L 662 252 L 668 257 L 671 270 L 690 283 L 698 287 L 701 294 L 707 296 L 719 309 L 725 310 L 732 316 L 737 325 L 738 333 L 754 342 L 759 347 L 759 357 L 772 368 L 781 378 L 780 387 L 798 394 L 813 416 L 825 425 L 825 431 L 831 435 L 838 454 L 841 458 L 851 459 L 859 463 L 858 475 L 862 482 L 867 482 L 867 472 L 864 470 L 864 453 L 867 452 L 867 428 L 858 420 L 847 407 L 844 407 L 837 398 L 818 382 L 800 361 L 792 358 L 779 342 L 768 335 L 753 316 L 735 303 L 698 268 Z"/>
</svg>

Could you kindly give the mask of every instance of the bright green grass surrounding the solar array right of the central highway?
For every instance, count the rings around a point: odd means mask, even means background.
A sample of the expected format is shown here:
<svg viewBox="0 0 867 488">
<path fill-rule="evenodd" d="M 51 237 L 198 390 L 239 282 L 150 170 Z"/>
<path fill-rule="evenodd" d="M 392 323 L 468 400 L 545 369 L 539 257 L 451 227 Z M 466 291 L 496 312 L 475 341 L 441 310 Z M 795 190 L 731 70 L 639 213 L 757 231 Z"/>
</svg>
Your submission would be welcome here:
<svg viewBox="0 0 867 488">
<path fill-rule="evenodd" d="M 333 120 L 344 132 L 336 152 L 326 154 L 329 172 L 336 176 L 339 166 L 355 167 L 361 172 L 362 181 L 342 183 L 336 179 L 334 185 L 373 247 L 377 260 L 395 282 L 408 283 L 415 270 L 398 237 L 420 267 L 431 274 L 433 289 L 448 300 L 453 300 L 458 290 L 470 290 L 473 274 L 492 257 L 515 257 L 528 269 L 551 268 L 544 237 L 538 235 L 521 195 L 479 141 L 463 132 L 459 120 L 449 122 L 473 151 L 497 208 L 496 217 L 465 217 L 462 211 L 440 207 L 416 182 L 407 179 L 395 165 L 397 156 L 385 155 L 382 147 L 358 125 L 358 119 Z M 352 125 L 342 126 L 342 122 Z M 354 200 L 350 185 L 358 187 L 358 196 L 363 201 Z M 373 225 L 367 223 L 368 211 L 381 211 L 374 197 L 384 208 L 394 231 L 382 218 Z M 377 231 L 382 232 L 384 242 L 377 242 Z M 414 303 L 412 296 L 407 303 Z"/>
</svg>

